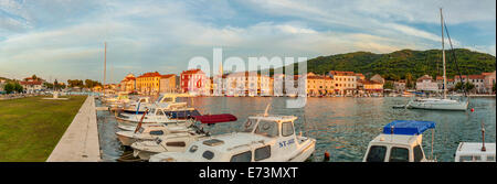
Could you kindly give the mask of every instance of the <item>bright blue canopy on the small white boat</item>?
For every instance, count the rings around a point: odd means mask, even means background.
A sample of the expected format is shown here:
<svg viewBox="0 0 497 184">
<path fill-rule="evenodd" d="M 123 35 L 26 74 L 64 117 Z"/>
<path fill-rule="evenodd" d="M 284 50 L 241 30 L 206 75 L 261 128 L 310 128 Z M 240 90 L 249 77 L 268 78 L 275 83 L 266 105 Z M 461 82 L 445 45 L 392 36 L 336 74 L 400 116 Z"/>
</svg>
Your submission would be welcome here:
<svg viewBox="0 0 497 184">
<path fill-rule="evenodd" d="M 434 129 L 433 121 L 394 120 L 383 127 L 384 134 L 421 134 L 427 129 Z"/>
</svg>

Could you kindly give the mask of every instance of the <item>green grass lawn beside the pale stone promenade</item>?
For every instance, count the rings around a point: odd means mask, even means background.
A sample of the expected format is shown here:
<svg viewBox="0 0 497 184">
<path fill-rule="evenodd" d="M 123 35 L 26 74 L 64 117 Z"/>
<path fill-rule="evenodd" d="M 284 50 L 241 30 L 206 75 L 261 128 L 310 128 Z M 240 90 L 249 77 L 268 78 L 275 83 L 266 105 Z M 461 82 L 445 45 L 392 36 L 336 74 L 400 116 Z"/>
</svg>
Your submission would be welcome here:
<svg viewBox="0 0 497 184">
<path fill-rule="evenodd" d="M 0 100 L 0 162 L 44 162 L 86 96 Z"/>
</svg>

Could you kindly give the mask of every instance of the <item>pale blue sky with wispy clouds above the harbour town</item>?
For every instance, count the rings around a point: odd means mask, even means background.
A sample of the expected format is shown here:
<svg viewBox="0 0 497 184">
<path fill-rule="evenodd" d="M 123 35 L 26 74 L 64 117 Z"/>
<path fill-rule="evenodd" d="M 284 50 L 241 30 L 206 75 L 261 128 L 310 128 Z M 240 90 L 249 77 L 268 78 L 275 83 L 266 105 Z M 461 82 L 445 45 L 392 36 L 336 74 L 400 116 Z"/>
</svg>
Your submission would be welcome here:
<svg viewBox="0 0 497 184">
<path fill-rule="evenodd" d="M 0 0 L 0 76 L 53 82 L 188 62 L 442 48 L 440 8 L 455 47 L 496 55 L 495 0 Z"/>
</svg>

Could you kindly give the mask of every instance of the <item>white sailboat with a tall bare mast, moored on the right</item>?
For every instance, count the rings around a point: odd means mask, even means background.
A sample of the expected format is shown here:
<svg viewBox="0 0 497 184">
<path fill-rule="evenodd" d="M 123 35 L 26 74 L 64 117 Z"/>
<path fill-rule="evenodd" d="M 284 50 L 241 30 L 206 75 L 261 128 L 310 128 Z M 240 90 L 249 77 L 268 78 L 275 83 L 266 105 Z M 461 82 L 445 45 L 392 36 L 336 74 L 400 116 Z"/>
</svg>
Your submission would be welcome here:
<svg viewBox="0 0 497 184">
<path fill-rule="evenodd" d="M 455 100 L 447 99 L 447 83 L 446 83 L 446 74 L 445 74 L 445 50 L 444 50 L 444 18 L 442 14 L 442 9 L 440 9 L 441 23 L 442 23 L 442 59 L 444 65 L 444 88 L 443 88 L 443 97 L 442 98 L 419 98 L 409 101 L 406 108 L 414 109 L 432 109 L 432 110 L 466 110 L 468 100 Z"/>
</svg>

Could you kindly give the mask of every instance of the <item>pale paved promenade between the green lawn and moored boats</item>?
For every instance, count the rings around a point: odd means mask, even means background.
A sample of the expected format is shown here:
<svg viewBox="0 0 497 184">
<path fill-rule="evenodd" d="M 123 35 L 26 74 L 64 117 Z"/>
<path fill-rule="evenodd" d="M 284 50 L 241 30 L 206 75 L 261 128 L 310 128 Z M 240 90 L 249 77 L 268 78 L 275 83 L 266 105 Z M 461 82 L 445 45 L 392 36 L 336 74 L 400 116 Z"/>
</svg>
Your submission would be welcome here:
<svg viewBox="0 0 497 184">
<path fill-rule="evenodd" d="M 95 99 L 88 96 L 46 162 L 98 162 Z"/>
</svg>

